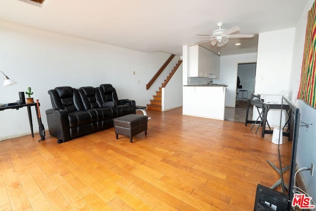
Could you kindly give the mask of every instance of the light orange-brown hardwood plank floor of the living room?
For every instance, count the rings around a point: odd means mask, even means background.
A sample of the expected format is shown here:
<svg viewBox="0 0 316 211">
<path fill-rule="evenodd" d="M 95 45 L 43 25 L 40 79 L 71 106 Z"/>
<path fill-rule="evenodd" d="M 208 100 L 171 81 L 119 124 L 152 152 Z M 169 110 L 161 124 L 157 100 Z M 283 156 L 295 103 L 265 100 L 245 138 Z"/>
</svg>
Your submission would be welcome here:
<svg viewBox="0 0 316 211">
<path fill-rule="evenodd" d="M 277 164 L 277 145 L 261 130 L 182 108 L 148 116 L 133 143 L 114 128 L 62 144 L 0 141 L 0 210 L 251 211 L 257 184 L 279 179 L 266 162 Z M 286 166 L 291 143 L 280 150 Z"/>
</svg>

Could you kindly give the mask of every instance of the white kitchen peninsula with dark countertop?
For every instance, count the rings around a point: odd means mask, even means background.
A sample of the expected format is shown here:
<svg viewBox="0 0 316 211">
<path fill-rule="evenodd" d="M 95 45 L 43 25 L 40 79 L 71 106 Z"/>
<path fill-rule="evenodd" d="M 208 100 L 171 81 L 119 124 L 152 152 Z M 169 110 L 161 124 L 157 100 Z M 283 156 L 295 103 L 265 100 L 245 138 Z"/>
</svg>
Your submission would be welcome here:
<svg viewBox="0 0 316 211">
<path fill-rule="evenodd" d="M 224 84 L 183 86 L 183 115 L 224 120 L 226 87 Z"/>
</svg>

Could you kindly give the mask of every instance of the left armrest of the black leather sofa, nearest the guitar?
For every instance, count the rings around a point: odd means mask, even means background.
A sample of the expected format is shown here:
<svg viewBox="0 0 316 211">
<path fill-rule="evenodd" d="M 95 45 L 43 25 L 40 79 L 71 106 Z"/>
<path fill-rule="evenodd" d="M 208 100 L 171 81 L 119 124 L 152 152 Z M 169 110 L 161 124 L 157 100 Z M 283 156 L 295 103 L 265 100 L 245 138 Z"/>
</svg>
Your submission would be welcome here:
<svg viewBox="0 0 316 211">
<path fill-rule="evenodd" d="M 60 108 L 45 111 L 49 134 L 63 142 L 71 140 L 68 112 Z"/>
</svg>

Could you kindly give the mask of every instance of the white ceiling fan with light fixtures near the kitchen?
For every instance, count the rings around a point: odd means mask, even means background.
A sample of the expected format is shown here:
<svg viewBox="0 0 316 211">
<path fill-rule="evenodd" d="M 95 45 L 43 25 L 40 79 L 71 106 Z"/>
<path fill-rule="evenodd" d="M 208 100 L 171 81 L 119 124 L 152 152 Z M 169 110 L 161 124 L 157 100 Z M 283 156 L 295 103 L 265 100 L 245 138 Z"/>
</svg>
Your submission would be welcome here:
<svg viewBox="0 0 316 211">
<path fill-rule="evenodd" d="M 206 42 L 211 42 L 212 45 L 215 45 L 217 43 L 217 46 L 221 47 L 228 42 L 229 38 L 252 38 L 254 36 L 252 34 L 247 34 L 247 35 L 234 34 L 233 35 L 233 33 L 240 31 L 239 27 L 234 26 L 234 27 L 226 30 L 226 29 L 222 29 L 222 26 L 223 26 L 222 22 L 217 23 L 218 29 L 214 30 L 212 35 L 197 35 L 197 36 L 208 37 L 207 38 L 208 40 L 197 42 L 195 44 L 202 44 L 202 43 L 206 43 Z"/>
</svg>

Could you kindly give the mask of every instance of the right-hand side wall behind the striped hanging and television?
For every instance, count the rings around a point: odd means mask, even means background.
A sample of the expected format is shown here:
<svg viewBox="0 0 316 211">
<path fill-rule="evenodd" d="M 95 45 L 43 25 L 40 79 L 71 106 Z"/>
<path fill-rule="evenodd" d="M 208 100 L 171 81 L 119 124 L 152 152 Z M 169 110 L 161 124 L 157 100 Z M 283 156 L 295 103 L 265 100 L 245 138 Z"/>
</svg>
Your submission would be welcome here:
<svg viewBox="0 0 316 211">
<path fill-rule="evenodd" d="M 290 98 L 300 109 L 301 121 L 309 124 L 309 128 L 300 127 L 297 150 L 297 166 L 311 167 L 313 162 L 316 165 L 316 109 L 306 105 L 303 101 L 297 100 L 297 93 L 300 83 L 301 67 L 303 60 L 305 32 L 307 23 L 307 12 L 311 8 L 314 0 L 308 0 L 306 7 L 301 14 L 301 18 L 296 26 L 294 51 L 292 59 L 292 68 L 290 71 L 290 80 L 288 89 L 290 90 Z M 311 125 L 312 124 L 312 125 Z M 314 169 L 314 177 L 310 171 L 303 171 L 303 182 L 307 188 L 308 194 L 316 201 L 316 174 Z"/>
</svg>

